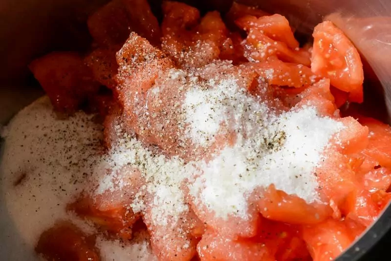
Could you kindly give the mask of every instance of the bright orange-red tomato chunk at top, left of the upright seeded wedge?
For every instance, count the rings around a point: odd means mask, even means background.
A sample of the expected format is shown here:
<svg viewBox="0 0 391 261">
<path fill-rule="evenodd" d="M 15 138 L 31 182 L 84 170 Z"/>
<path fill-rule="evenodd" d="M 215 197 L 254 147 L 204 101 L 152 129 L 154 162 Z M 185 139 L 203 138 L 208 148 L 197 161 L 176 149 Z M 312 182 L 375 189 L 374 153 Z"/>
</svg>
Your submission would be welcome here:
<svg viewBox="0 0 391 261">
<path fill-rule="evenodd" d="M 286 43 L 289 48 L 299 48 L 288 20 L 282 15 L 262 16 L 258 19 L 255 16 L 243 16 L 235 22 L 240 28 L 257 28 L 267 37 Z"/>
</svg>

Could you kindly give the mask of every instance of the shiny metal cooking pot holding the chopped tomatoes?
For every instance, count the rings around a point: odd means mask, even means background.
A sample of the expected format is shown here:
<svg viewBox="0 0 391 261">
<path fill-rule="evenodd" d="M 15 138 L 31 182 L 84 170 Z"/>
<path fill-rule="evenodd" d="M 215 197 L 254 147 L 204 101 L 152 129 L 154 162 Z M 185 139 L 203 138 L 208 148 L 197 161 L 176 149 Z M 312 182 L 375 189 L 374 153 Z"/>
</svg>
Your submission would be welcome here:
<svg viewBox="0 0 391 261">
<path fill-rule="evenodd" d="M 84 50 L 91 39 L 87 17 L 107 0 L 2 0 L 0 2 L 0 127 L 43 94 L 27 69 L 34 58 L 52 50 Z M 159 0 L 150 0 L 159 14 Z M 202 11 L 227 11 L 230 0 L 186 1 Z M 390 123 L 391 115 L 391 1 L 388 0 L 241 0 L 288 18 L 302 39 L 323 19 L 337 24 L 357 46 L 365 69 L 365 102 L 359 109 Z M 1 152 L 0 152 L 1 160 Z M 1 174 L 0 174 L 1 181 Z M 0 187 L 1 188 L 1 187 Z M 0 259 L 33 260 L 7 215 L 0 191 Z M 361 259 L 391 228 L 391 206 L 343 253 L 340 261 Z M 390 234 L 390 233 L 388 233 Z M 388 237 L 391 237 L 388 235 Z M 367 256 L 374 260 L 374 256 Z"/>
</svg>

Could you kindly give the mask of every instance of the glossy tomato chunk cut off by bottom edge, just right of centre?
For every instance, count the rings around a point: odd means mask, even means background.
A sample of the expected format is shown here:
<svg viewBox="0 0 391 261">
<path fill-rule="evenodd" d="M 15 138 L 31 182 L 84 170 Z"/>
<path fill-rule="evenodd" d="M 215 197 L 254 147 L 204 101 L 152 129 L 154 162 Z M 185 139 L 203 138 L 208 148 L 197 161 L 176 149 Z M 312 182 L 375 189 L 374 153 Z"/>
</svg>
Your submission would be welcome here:
<svg viewBox="0 0 391 261">
<path fill-rule="evenodd" d="M 208 229 L 197 245 L 201 261 L 275 261 L 265 244 L 225 238 Z"/>
</svg>

